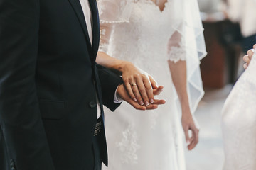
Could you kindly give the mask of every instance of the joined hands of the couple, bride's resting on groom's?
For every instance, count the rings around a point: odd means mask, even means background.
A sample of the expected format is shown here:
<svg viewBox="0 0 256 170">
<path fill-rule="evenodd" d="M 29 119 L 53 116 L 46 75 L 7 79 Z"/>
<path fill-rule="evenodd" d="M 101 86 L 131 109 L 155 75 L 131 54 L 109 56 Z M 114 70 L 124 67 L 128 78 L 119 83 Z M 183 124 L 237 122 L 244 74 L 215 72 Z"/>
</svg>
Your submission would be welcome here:
<svg viewBox="0 0 256 170">
<path fill-rule="evenodd" d="M 156 109 L 165 103 L 162 99 L 154 98 L 163 91 L 164 86 L 158 86 L 153 77 L 129 62 L 124 69 L 122 72 L 124 83 L 117 89 L 119 98 L 127 101 L 137 110 Z"/>
</svg>

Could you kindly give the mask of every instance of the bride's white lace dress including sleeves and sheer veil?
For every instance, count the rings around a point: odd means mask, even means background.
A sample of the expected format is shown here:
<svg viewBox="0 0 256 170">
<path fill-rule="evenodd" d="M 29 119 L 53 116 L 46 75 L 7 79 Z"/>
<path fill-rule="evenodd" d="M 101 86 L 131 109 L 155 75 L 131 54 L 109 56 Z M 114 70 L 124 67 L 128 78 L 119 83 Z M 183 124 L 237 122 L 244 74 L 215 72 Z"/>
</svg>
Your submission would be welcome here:
<svg viewBox="0 0 256 170">
<path fill-rule="evenodd" d="M 99 0 L 98 7 L 100 51 L 151 74 L 164 85 L 159 98 L 166 99 L 156 111 L 136 111 L 127 103 L 114 113 L 105 108 L 107 169 L 186 169 L 181 112 L 167 60 L 186 60 L 194 112 L 203 96 L 199 64 L 206 55 L 197 1 L 168 0 L 164 11 L 151 0 Z"/>
</svg>

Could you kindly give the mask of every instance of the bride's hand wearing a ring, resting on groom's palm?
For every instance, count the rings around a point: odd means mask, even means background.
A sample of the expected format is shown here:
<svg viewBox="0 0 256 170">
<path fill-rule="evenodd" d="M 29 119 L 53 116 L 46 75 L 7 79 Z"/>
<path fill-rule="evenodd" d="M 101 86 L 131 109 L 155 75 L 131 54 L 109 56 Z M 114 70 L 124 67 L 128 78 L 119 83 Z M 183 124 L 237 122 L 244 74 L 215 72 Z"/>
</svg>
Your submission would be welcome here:
<svg viewBox="0 0 256 170">
<path fill-rule="evenodd" d="M 122 79 L 129 96 L 141 106 L 154 103 L 154 95 L 158 95 L 164 86 L 158 86 L 149 74 L 137 69 L 131 62 L 124 62 Z"/>
</svg>

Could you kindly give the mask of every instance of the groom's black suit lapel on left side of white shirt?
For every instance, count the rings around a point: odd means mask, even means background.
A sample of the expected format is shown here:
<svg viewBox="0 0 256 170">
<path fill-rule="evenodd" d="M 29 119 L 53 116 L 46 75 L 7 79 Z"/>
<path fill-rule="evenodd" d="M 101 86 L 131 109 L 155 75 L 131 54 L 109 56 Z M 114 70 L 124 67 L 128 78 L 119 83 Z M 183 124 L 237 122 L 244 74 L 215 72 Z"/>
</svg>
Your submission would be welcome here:
<svg viewBox="0 0 256 170">
<path fill-rule="evenodd" d="M 76 13 L 76 16 L 78 16 L 78 19 L 79 19 L 80 24 L 82 26 L 82 30 L 85 33 L 87 44 L 89 46 L 91 46 L 90 38 L 89 38 L 88 30 L 87 30 L 87 26 L 86 26 L 86 23 L 85 23 L 85 16 L 83 14 L 82 6 L 80 4 L 80 1 L 79 0 L 68 0 L 68 1 L 70 1 L 71 6 L 73 6 L 73 9 L 74 9 L 74 11 Z M 91 50 L 91 47 L 89 49 Z"/>
</svg>

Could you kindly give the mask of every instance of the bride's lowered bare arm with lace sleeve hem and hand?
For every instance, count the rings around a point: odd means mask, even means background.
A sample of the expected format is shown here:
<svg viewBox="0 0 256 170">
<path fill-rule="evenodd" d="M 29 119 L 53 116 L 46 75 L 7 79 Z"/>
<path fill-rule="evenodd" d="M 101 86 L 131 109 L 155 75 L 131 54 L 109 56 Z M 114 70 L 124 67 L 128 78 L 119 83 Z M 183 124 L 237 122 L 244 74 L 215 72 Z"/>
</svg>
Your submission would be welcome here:
<svg viewBox="0 0 256 170">
<path fill-rule="evenodd" d="M 193 121 L 191 109 L 188 102 L 187 91 L 187 70 L 186 70 L 186 52 L 180 43 L 181 35 L 176 32 L 169 40 L 169 68 L 171 77 L 176 88 L 179 101 L 181 103 L 182 117 L 181 123 L 186 136 L 186 142 L 189 144 L 188 149 L 196 147 L 198 143 L 199 130 Z M 192 136 L 188 136 L 188 130 L 192 130 Z"/>
</svg>

